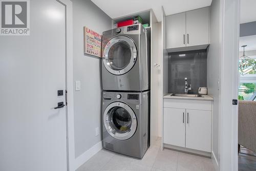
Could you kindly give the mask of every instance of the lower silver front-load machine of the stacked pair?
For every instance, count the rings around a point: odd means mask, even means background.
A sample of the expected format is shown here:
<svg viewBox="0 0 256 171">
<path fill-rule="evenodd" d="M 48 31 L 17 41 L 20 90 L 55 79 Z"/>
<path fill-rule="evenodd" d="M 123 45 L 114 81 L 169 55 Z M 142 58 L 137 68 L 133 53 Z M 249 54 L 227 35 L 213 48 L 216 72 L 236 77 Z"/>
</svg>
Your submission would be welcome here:
<svg viewBox="0 0 256 171">
<path fill-rule="evenodd" d="M 103 92 L 103 147 L 142 158 L 150 146 L 150 92 Z"/>
</svg>

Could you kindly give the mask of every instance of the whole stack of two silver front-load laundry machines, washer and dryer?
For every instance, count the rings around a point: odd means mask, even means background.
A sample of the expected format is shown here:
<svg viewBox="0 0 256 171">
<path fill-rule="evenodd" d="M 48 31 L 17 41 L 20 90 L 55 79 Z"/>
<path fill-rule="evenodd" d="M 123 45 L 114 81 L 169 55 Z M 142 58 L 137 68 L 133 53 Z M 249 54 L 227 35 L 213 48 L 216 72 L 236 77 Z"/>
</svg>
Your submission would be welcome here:
<svg viewBox="0 0 256 171">
<path fill-rule="evenodd" d="M 103 147 L 142 158 L 150 146 L 150 57 L 141 24 L 102 34 Z"/>
</svg>

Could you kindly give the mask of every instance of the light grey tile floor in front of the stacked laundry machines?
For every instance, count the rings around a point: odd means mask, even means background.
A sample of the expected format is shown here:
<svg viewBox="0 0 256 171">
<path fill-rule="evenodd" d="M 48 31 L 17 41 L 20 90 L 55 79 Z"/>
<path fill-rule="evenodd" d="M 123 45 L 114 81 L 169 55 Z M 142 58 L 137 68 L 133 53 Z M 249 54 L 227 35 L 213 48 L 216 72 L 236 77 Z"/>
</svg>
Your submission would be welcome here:
<svg viewBox="0 0 256 171">
<path fill-rule="evenodd" d="M 142 160 L 126 157 L 101 149 L 77 171 L 138 170 L 138 171 L 214 171 L 211 159 L 189 155 L 169 149 L 160 149 L 160 139 L 150 148 Z"/>
</svg>

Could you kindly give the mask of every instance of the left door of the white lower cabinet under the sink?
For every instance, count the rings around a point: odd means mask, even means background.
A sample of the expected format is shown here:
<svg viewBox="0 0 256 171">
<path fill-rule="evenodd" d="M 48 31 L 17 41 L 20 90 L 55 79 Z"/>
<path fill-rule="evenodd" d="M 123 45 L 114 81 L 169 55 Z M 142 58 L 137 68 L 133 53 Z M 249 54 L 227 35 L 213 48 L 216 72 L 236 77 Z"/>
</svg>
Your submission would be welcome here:
<svg viewBox="0 0 256 171">
<path fill-rule="evenodd" d="M 163 143 L 185 147 L 185 109 L 164 108 Z"/>
</svg>

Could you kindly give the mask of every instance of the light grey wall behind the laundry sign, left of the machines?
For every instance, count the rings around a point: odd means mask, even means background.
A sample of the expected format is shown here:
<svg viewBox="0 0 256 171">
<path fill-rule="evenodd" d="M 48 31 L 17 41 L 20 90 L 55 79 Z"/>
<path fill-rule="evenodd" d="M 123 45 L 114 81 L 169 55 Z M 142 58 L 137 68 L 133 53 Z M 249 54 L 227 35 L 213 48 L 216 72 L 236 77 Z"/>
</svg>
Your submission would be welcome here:
<svg viewBox="0 0 256 171">
<path fill-rule="evenodd" d="M 76 158 L 101 141 L 101 59 L 83 54 L 83 26 L 102 34 L 111 18 L 91 1 L 73 1 L 74 81 L 81 81 L 81 91 L 74 90 Z"/>
</svg>

